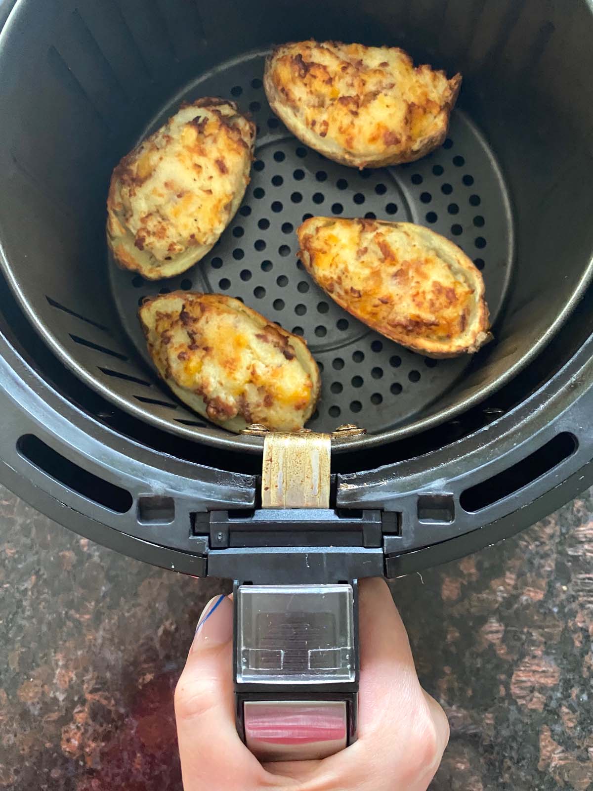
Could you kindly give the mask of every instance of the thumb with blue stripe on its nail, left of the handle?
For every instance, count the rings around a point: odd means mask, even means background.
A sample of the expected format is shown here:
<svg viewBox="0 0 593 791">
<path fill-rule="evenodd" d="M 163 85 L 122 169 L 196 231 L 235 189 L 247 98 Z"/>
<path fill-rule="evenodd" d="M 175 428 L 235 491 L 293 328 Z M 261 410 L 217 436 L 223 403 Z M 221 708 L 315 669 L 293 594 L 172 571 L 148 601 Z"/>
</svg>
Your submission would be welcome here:
<svg viewBox="0 0 593 791">
<path fill-rule="evenodd" d="M 184 791 L 248 791 L 263 770 L 236 732 L 232 689 L 232 601 L 211 600 L 175 692 Z"/>
</svg>

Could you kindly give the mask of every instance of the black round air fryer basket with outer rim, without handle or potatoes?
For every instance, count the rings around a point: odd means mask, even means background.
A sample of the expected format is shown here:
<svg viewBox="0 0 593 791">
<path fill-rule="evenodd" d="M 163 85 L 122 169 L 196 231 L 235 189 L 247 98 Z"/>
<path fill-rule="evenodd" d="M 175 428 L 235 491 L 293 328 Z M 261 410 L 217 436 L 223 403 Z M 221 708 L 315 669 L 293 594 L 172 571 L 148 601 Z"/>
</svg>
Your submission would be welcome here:
<svg viewBox="0 0 593 791">
<path fill-rule="evenodd" d="M 18 494 L 161 566 L 251 580 L 274 551 L 285 579 L 307 581 L 306 548 L 338 547 L 328 577 L 393 576 L 493 543 L 591 483 L 588 0 L 4 0 L 0 14 L 0 474 Z M 302 146 L 262 76 L 271 45 L 308 37 L 460 71 L 444 145 L 363 171 Z M 255 119 L 251 184 L 202 262 L 145 282 L 108 266 L 111 169 L 201 96 Z M 483 272 L 495 341 L 435 361 L 369 331 L 296 259 L 308 214 L 451 238 Z M 173 289 L 241 297 L 304 335 L 323 372 L 309 427 L 366 428 L 333 443 L 329 533 L 309 513 L 249 538 L 262 438 L 206 424 L 146 356 L 138 302 Z"/>
</svg>

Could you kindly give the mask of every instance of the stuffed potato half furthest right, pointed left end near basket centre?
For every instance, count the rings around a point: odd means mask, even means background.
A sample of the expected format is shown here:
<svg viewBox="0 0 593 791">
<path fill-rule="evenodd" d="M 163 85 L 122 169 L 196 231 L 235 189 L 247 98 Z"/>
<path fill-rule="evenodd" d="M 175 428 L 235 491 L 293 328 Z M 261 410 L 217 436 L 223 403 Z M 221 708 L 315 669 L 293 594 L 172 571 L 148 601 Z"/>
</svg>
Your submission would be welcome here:
<svg viewBox="0 0 593 791">
<path fill-rule="evenodd" d="M 472 354 L 489 335 L 484 281 L 448 239 L 410 222 L 312 217 L 300 259 L 342 308 L 428 357 Z"/>
</svg>

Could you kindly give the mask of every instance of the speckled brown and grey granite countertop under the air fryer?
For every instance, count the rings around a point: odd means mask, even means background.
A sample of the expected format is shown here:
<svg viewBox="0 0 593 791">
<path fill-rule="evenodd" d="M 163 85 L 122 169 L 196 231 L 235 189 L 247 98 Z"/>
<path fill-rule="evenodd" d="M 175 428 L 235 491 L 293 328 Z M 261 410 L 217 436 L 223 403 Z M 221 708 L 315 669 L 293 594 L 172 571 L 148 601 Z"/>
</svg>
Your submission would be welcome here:
<svg viewBox="0 0 593 791">
<path fill-rule="evenodd" d="M 432 791 L 593 789 L 593 491 L 395 581 L 451 742 Z M 80 539 L 0 488 L 0 788 L 181 789 L 172 691 L 223 587 Z"/>
</svg>

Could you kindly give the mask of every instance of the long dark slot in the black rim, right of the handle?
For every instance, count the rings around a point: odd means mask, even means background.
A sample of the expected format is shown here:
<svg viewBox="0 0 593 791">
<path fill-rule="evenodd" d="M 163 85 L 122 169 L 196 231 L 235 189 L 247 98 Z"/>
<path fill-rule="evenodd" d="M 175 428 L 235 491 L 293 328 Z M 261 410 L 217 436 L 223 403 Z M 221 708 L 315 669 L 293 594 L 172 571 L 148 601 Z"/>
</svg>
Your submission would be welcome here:
<svg viewBox="0 0 593 791">
<path fill-rule="evenodd" d="M 542 475 L 553 470 L 576 451 L 577 441 L 572 434 L 564 432 L 553 437 L 530 456 L 493 475 L 492 478 L 471 486 L 459 498 L 461 507 L 468 513 L 480 511 L 489 505 L 504 500 L 523 486 L 533 483 Z"/>
</svg>

